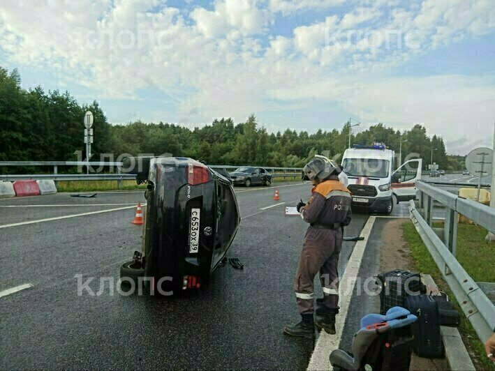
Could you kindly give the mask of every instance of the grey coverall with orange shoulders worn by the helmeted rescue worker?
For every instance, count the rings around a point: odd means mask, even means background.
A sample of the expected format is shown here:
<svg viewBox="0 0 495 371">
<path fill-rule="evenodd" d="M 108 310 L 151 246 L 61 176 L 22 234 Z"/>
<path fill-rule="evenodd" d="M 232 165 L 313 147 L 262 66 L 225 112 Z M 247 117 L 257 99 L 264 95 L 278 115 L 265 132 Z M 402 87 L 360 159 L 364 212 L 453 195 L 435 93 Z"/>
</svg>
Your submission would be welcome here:
<svg viewBox="0 0 495 371">
<path fill-rule="evenodd" d="M 294 290 L 300 314 L 313 313 L 313 280 L 320 271 L 323 302 L 318 312 L 337 312 L 339 303 L 339 253 L 342 246 L 341 226 L 350 223 L 350 192 L 337 176 L 313 188 L 301 217 L 310 226 L 295 275 Z"/>
</svg>

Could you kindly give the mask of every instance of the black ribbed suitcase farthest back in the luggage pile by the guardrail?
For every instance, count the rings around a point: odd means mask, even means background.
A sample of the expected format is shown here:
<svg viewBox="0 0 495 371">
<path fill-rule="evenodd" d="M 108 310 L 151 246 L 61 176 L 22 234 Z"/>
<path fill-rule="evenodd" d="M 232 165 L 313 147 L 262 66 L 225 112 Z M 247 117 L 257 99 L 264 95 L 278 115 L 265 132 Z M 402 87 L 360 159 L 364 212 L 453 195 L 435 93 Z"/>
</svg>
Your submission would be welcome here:
<svg viewBox="0 0 495 371">
<path fill-rule="evenodd" d="M 401 271 L 394 269 L 377 276 L 377 284 L 381 285 L 380 312 L 387 313 L 392 307 L 403 307 L 404 301 L 409 295 L 419 295 L 426 292 L 426 287 L 421 282 L 420 273 Z"/>
</svg>

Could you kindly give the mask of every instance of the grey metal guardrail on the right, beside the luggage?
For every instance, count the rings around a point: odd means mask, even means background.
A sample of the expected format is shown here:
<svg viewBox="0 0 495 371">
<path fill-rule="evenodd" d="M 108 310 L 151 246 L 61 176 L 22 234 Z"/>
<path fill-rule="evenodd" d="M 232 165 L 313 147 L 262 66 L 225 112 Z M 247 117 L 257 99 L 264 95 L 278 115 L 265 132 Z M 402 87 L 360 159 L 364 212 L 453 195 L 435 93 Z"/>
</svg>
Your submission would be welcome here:
<svg viewBox="0 0 495 371">
<path fill-rule="evenodd" d="M 458 215 L 461 214 L 490 232 L 495 232 L 495 209 L 453 195 L 422 181 L 418 182 L 417 186 L 420 190 L 420 201 L 418 207 L 413 200 L 410 202 L 411 220 L 440 269 L 443 279 L 454 293 L 464 315 L 473 325 L 478 338 L 485 342 L 492 335 L 495 327 L 495 305 L 455 258 L 457 220 Z M 432 227 L 434 202 L 445 206 L 443 231 Z"/>
</svg>

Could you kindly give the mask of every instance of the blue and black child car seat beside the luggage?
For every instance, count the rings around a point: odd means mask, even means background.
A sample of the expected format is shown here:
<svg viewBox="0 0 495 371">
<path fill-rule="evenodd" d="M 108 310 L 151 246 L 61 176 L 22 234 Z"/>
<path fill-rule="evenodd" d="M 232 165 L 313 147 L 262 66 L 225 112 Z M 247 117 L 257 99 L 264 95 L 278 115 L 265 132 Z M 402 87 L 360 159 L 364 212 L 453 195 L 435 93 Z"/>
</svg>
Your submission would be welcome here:
<svg viewBox="0 0 495 371">
<path fill-rule="evenodd" d="M 365 315 L 354 335 L 353 353 L 336 349 L 330 354 L 334 370 L 408 370 L 411 362 L 411 324 L 418 317 L 401 307 L 386 315 Z M 369 367 L 366 370 L 369 370 Z"/>
</svg>

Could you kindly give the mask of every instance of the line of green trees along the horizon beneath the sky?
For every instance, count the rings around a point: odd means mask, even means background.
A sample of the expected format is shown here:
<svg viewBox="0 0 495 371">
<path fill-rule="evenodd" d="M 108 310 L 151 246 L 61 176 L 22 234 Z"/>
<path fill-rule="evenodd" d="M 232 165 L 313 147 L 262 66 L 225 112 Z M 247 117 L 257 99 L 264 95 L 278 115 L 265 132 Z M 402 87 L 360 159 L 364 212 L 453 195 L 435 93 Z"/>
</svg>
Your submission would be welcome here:
<svg viewBox="0 0 495 371">
<path fill-rule="evenodd" d="M 84 158 L 82 121 L 87 110 L 94 114 L 91 160 L 108 160 L 109 153 L 114 160 L 123 153 L 172 153 L 210 165 L 302 167 L 317 153 L 339 160 L 348 146 L 351 130 L 348 122 L 340 130 L 320 129 L 312 134 L 289 129 L 269 133 L 254 115 L 244 123 L 220 119 L 193 130 L 163 122 L 111 125 L 96 101 L 80 105 L 68 92 L 44 91 L 40 86 L 26 90 L 20 81 L 17 70 L 9 73 L 0 68 L 0 161 Z M 464 166 L 464 158 L 447 156 L 443 139 L 429 137 L 421 125 L 399 131 L 378 123 L 357 134 L 351 132 L 350 141 L 383 142 L 397 156 L 402 142 L 403 159 L 408 153 L 418 153 L 425 167 L 433 148 L 433 161 L 441 169 L 458 170 Z"/>
</svg>

